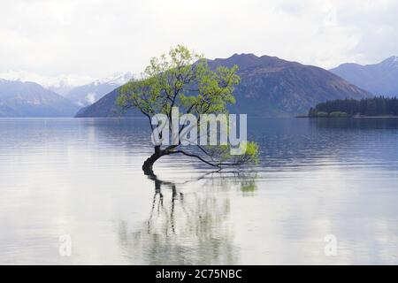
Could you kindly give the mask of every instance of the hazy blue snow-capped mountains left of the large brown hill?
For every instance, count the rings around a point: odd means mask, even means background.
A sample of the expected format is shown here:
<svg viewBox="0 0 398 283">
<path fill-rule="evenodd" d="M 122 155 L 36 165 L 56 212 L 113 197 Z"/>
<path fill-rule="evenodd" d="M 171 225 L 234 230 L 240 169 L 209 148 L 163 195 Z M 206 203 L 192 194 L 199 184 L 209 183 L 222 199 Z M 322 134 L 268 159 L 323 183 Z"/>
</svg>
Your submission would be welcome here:
<svg viewBox="0 0 398 283">
<path fill-rule="evenodd" d="M 46 87 L 24 81 L 26 78 L 0 79 L 0 117 L 73 117 L 82 107 L 95 103 L 132 78 L 132 73 L 116 73 L 73 86 L 67 77 L 61 77 L 46 83 Z"/>
</svg>

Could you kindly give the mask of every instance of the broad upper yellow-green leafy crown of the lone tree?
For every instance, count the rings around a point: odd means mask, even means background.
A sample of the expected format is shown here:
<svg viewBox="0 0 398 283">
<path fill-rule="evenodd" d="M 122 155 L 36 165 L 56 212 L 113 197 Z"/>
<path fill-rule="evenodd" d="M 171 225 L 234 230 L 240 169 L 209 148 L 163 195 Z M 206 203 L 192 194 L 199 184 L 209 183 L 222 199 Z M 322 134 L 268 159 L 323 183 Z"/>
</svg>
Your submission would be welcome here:
<svg viewBox="0 0 398 283">
<path fill-rule="evenodd" d="M 124 109 L 135 107 L 147 117 L 171 115 L 172 106 L 194 115 L 226 112 L 227 104 L 235 102 L 237 69 L 220 66 L 212 71 L 202 55 L 178 45 L 168 56 L 152 58 L 142 80 L 120 88 L 117 103 Z"/>
</svg>

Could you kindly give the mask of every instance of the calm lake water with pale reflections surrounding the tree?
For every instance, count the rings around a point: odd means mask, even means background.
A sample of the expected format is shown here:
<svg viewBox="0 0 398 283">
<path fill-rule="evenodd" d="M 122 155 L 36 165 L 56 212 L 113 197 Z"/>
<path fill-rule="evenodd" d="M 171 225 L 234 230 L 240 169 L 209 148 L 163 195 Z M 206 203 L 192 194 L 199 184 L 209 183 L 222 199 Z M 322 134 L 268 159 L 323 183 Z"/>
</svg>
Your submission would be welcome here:
<svg viewBox="0 0 398 283">
<path fill-rule="evenodd" d="M 256 168 L 155 182 L 146 120 L 0 119 L 0 264 L 398 264 L 398 119 L 248 127 Z"/>
</svg>

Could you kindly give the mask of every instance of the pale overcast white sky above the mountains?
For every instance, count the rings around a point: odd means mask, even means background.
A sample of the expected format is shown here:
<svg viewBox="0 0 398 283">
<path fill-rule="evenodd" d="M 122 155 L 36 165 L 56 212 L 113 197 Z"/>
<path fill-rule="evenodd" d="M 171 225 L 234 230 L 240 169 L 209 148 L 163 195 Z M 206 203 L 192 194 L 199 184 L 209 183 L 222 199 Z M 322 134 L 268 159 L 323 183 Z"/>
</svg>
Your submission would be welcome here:
<svg viewBox="0 0 398 283">
<path fill-rule="evenodd" d="M 332 68 L 398 55 L 398 0 L 0 0 L 0 78 L 141 73 L 183 44 L 206 57 Z"/>
</svg>

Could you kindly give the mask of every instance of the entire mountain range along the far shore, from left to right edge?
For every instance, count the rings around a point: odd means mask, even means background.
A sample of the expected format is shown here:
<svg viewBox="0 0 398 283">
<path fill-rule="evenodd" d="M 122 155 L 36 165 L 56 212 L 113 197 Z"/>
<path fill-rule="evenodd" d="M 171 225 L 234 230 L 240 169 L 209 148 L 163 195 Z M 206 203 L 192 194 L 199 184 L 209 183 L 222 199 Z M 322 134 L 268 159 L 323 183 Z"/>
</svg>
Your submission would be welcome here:
<svg viewBox="0 0 398 283">
<path fill-rule="evenodd" d="M 230 111 L 253 117 L 291 117 L 306 113 L 317 103 L 346 97 L 398 95 L 398 57 L 374 65 L 342 64 L 329 71 L 254 54 L 234 54 L 208 62 L 212 69 L 239 66 L 241 83 L 235 88 L 236 103 Z M 119 87 L 133 77 L 132 73 L 116 73 L 78 86 L 65 77 L 45 87 L 0 80 L 0 117 L 119 117 L 115 104 Z M 141 113 L 131 110 L 123 115 L 140 117 Z"/>
</svg>

